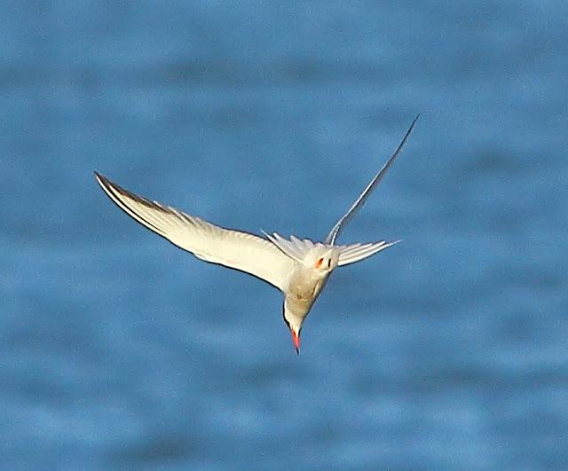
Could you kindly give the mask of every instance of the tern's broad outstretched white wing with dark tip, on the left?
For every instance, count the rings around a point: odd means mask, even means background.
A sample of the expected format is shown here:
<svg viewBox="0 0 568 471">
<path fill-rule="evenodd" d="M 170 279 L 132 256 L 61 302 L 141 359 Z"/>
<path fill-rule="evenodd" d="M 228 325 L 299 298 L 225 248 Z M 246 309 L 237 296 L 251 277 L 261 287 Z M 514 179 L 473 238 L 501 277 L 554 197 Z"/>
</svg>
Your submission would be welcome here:
<svg viewBox="0 0 568 471">
<path fill-rule="evenodd" d="M 176 208 L 146 200 L 97 172 L 95 177 L 109 198 L 126 214 L 177 247 L 206 262 L 250 273 L 280 291 L 287 289 L 296 262 L 269 240 L 224 229 Z"/>
</svg>

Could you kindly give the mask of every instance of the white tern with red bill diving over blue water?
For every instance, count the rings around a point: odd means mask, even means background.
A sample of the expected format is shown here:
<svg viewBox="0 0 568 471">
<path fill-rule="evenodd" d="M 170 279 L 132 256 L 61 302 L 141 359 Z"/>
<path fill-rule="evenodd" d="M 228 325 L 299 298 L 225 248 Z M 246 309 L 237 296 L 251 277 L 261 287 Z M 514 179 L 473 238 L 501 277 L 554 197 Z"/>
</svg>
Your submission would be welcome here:
<svg viewBox="0 0 568 471">
<path fill-rule="evenodd" d="M 98 172 L 95 172 L 95 177 L 119 208 L 172 244 L 205 262 L 245 271 L 280 289 L 284 294 L 282 314 L 292 334 L 296 353 L 299 353 L 300 331 L 304 320 L 332 271 L 338 266 L 375 255 L 398 242 L 381 240 L 367 244 L 335 245 L 345 224 L 365 204 L 397 158 L 417 120 L 418 116 L 414 118 L 390 159 L 359 194 L 347 213 L 337 221 L 324 242 L 312 242 L 295 236 L 285 239 L 276 232 L 272 235 L 264 232 L 264 239 L 248 232 L 225 229 L 200 217 L 137 196 Z"/>
</svg>

